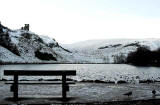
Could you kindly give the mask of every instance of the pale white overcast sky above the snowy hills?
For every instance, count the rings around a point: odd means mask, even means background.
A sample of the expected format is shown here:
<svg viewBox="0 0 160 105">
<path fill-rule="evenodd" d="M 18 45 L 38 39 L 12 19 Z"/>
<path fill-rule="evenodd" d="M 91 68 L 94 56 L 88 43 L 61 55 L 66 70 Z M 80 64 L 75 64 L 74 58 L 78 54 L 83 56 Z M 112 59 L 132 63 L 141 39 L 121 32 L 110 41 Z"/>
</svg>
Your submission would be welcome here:
<svg viewBox="0 0 160 105">
<path fill-rule="evenodd" d="M 160 0 L 0 0 L 0 21 L 66 44 L 89 39 L 160 38 Z"/>
</svg>

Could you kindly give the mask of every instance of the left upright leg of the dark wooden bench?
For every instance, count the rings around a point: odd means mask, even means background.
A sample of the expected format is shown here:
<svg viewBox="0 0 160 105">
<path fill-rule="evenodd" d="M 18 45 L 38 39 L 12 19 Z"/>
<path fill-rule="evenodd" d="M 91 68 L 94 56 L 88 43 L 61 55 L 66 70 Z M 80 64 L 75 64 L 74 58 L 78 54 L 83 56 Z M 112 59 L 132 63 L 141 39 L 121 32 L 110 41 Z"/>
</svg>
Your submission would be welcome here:
<svg viewBox="0 0 160 105">
<path fill-rule="evenodd" d="M 18 75 L 14 75 L 14 100 L 18 100 Z"/>
</svg>

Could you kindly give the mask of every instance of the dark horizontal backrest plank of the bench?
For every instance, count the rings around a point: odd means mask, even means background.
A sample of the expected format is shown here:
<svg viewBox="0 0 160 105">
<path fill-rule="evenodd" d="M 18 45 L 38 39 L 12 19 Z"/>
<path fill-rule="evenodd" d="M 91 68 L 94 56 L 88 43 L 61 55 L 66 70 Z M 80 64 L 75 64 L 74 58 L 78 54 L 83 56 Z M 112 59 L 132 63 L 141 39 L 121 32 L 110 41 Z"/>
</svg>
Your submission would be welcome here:
<svg viewBox="0 0 160 105">
<path fill-rule="evenodd" d="M 4 75 L 19 76 L 75 76 L 76 70 L 4 70 Z"/>
</svg>

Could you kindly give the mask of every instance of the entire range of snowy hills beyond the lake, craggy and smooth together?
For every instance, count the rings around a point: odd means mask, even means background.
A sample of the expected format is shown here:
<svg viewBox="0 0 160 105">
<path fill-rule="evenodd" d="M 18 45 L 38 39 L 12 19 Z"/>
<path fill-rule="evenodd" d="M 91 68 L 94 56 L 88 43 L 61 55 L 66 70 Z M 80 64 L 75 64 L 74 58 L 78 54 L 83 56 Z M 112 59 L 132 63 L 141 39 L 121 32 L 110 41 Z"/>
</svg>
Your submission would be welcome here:
<svg viewBox="0 0 160 105">
<path fill-rule="evenodd" d="M 59 45 L 33 32 L 0 24 L 0 63 L 125 63 L 139 47 L 154 51 L 160 39 L 87 40 Z"/>
</svg>

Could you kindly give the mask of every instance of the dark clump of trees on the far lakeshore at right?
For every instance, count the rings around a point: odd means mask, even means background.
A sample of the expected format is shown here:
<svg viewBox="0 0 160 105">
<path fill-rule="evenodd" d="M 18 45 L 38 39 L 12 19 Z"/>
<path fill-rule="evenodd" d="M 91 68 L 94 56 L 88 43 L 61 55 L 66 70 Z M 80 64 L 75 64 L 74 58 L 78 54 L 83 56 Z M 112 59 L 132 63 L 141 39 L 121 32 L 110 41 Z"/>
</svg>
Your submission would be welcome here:
<svg viewBox="0 0 160 105">
<path fill-rule="evenodd" d="M 147 47 L 139 47 L 135 52 L 128 54 L 126 63 L 137 66 L 160 66 L 160 49 L 151 51 Z"/>
</svg>

